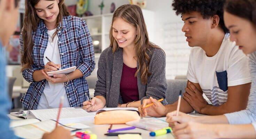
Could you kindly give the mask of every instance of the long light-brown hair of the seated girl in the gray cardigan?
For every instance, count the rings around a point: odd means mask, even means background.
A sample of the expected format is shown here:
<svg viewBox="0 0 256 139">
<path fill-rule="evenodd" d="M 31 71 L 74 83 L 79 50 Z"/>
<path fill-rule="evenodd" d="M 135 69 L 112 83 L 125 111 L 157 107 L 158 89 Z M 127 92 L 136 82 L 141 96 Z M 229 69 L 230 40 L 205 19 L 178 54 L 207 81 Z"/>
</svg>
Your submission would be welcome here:
<svg viewBox="0 0 256 139">
<path fill-rule="evenodd" d="M 113 53 L 119 48 L 117 41 L 112 35 L 112 25 L 116 18 L 124 19 L 125 22 L 133 25 L 137 30 L 137 36 L 135 38 L 135 50 L 139 68 L 134 76 L 136 77 L 138 72 L 140 72 L 141 82 L 143 84 L 147 84 L 148 77 L 151 75 L 148 70 L 150 63 L 149 54 L 151 53 L 150 48 L 161 48 L 152 42 L 149 42 L 146 24 L 140 7 L 127 4 L 118 7 L 113 15 L 112 24 L 109 31 L 110 47 L 113 48 Z"/>
</svg>

